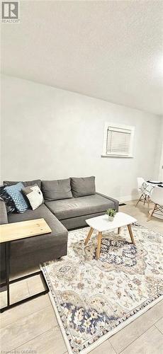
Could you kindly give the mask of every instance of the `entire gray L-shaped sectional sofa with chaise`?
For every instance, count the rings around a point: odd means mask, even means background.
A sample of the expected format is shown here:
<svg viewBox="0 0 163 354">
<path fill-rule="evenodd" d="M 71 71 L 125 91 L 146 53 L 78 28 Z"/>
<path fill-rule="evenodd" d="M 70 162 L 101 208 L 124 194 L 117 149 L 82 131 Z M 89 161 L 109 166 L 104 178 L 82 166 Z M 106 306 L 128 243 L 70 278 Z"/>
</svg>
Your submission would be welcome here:
<svg viewBox="0 0 163 354">
<path fill-rule="evenodd" d="M 67 254 L 68 230 L 86 226 L 86 219 L 103 215 L 108 208 L 115 208 L 118 211 L 118 200 L 96 193 L 95 188 L 92 189 L 94 177 L 90 178 L 23 182 L 24 185 L 31 185 L 37 182 L 43 191 L 45 199 L 44 203 L 36 210 L 29 209 L 23 214 L 12 212 L 7 215 L 5 202 L 0 200 L 1 224 L 43 217 L 52 229 L 51 234 L 35 236 L 11 243 L 12 273 L 18 273 L 18 270 L 20 272 L 23 270 L 30 271 L 31 268 L 39 265 L 39 263 L 65 256 Z M 71 181 L 76 181 L 76 185 L 73 185 Z M 6 185 L 13 183 L 16 182 L 5 182 Z M 74 189 L 72 190 L 72 188 Z M 1 269 L 4 268 L 3 260 L 4 250 L 2 247 Z"/>
</svg>

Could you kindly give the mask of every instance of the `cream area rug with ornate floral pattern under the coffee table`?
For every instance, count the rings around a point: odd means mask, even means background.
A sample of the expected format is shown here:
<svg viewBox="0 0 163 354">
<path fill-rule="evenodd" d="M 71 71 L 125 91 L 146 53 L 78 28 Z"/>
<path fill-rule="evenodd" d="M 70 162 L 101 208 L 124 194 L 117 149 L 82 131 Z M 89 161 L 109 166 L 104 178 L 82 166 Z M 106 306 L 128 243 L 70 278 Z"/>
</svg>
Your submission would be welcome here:
<svg viewBox="0 0 163 354">
<path fill-rule="evenodd" d="M 68 255 L 42 267 L 69 353 L 89 353 L 162 299 L 162 235 L 134 224 L 103 233 L 96 261 L 96 234 L 69 232 Z"/>
</svg>

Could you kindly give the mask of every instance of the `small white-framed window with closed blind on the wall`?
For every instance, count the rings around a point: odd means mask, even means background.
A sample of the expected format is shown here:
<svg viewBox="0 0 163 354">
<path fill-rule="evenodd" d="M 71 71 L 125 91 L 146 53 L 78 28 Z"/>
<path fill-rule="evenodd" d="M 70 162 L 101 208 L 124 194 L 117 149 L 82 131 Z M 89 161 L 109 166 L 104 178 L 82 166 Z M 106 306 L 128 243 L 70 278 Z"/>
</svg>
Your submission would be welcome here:
<svg viewBox="0 0 163 354">
<path fill-rule="evenodd" d="M 105 124 L 103 155 L 133 157 L 133 137 L 135 127 Z"/>
</svg>

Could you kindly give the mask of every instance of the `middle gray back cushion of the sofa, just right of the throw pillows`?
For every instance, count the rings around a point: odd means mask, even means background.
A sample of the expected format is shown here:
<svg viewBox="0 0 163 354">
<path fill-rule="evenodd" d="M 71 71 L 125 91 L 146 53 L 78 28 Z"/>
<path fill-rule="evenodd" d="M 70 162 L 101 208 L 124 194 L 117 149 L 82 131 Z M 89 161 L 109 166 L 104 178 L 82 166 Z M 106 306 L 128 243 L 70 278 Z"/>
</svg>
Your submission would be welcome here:
<svg viewBox="0 0 163 354">
<path fill-rule="evenodd" d="M 45 200 L 73 198 L 70 178 L 56 181 L 42 181 L 41 189 Z"/>
</svg>

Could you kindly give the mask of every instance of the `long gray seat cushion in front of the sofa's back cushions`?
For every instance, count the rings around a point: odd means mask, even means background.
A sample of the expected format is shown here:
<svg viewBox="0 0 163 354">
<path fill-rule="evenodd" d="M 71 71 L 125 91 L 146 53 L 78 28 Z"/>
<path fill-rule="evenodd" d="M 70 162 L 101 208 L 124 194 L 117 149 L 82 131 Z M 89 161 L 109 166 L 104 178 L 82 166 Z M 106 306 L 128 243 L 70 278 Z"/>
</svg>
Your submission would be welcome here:
<svg viewBox="0 0 163 354">
<path fill-rule="evenodd" d="M 98 194 L 72 199 L 55 200 L 52 202 L 45 202 L 45 204 L 60 220 L 91 215 L 97 212 L 105 212 L 109 207 L 115 207 L 113 200 L 104 198 Z"/>
</svg>

